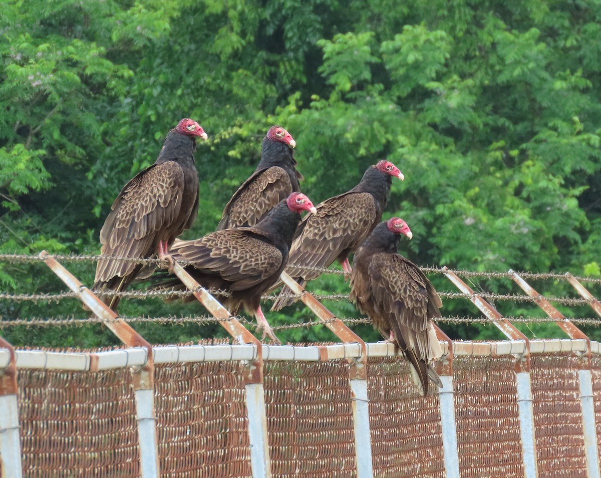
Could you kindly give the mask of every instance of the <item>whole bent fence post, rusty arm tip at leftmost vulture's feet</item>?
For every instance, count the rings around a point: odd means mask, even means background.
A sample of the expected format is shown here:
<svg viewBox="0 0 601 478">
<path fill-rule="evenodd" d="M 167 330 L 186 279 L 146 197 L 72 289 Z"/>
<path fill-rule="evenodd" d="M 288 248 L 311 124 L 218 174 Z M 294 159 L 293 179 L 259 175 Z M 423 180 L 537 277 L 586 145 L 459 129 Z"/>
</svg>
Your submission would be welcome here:
<svg viewBox="0 0 601 478">
<path fill-rule="evenodd" d="M 185 269 L 172 261 L 169 268 L 195 298 L 206 307 L 229 334 L 241 345 L 249 343 L 255 348 L 255 358 L 249 360 L 244 367 L 246 390 L 246 414 L 248 417 L 248 435 L 251 444 L 251 470 L 253 478 L 270 478 L 271 460 L 269 456 L 269 440 L 267 437 L 267 414 L 265 409 L 265 393 L 263 390 L 263 347 L 261 342 L 248 331 L 230 312 L 215 299 L 206 289 L 192 278 Z"/>
</svg>

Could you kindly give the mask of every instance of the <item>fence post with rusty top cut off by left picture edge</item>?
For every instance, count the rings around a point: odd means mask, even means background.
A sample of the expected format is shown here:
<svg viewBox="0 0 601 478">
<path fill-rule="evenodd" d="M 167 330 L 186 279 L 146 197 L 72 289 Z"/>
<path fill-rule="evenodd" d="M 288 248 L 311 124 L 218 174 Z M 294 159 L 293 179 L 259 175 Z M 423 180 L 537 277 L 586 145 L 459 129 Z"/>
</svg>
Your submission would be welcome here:
<svg viewBox="0 0 601 478">
<path fill-rule="evenodd" d="M 0 349 L 10 356 L 8 366 L 0 370 L 0 462 L 2 478 L 21 478 L 19 403 L 17 397 L 17 355 L 13 346 L 0 337 Z"/>
</svg>

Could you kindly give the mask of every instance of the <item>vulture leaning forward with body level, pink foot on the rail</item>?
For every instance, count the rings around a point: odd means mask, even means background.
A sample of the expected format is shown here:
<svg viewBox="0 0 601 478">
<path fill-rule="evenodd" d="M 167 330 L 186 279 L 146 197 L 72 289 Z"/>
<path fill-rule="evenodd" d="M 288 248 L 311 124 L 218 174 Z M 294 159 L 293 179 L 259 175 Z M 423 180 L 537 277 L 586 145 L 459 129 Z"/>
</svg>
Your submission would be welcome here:
<svg viewBox="0 0 601 478">
<path fill-rule="evenodd" d="M 231 314 L 243 307 L 257 319 L 257 329 L 263 330 L 261 338 L 267 335 L 279 343 L 261 311 L 260 300 L 284 270 L 302 210 L 314 212 L 315 207 L 307 196 L 293 192 L 252 227 L 219 230 L 195 241 L 175 241 L 169 253 L 188 263 L 186 271 L 201 286 L 227 292 L 220 299 Z M 155 288 L 172 287 L 185 289 L 177 278 Z"/>
</svg>

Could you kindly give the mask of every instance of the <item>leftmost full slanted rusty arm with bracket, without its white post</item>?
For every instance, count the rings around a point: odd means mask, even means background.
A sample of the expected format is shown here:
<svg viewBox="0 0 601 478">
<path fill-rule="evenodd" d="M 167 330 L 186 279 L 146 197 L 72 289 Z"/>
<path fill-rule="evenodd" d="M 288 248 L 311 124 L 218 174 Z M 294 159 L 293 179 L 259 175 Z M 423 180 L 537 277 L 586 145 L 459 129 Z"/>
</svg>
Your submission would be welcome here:
<svg viewBox="0 0 601 478">
<path fill-rule="evenodd" d="M 129 347 L 141 347 L 146 349 L 146 363 L 140 367 L 139 372 L 133 373 L 133 387 L 135 390 L 153 390 L 154 389 L 154 357 L 152 346 L 144 337 L 136 332 L 129 323 L 121 319 L 111 308 L 102 302 L 90 289 L 75 278 L 67 269 L 60 265 L 54 257 L 46 251 L 39 254 L 46 265 L 52 269 L 60 280 L 62 280 L 69 289 L 76 293 L 78 298 L 103 320 L 108 329 Z"/>
</svg>

